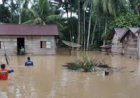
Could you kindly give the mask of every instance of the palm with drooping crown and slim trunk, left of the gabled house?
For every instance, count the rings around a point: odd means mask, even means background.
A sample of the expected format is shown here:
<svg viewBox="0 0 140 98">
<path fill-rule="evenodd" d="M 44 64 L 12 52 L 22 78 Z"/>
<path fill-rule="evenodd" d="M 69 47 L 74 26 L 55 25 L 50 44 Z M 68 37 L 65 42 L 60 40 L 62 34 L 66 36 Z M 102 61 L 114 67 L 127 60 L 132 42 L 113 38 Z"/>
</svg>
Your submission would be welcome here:
<svg viewBox="0 0 140 98">
<path fill-rule="evenodd" d="M 122 8 L 126 9 L 127 7 L 127 0 L 101 0 L 101 10 L 103 11 L 102 15 L 104 15 L 105 19 L 105 28 L 104 32 L 102 34 L 102 37 L 104 39 L 104 44 L 106 43 L 107 39 L 107 24 L 108 19 L 110 16 L 117 17 L 118 14 L 121 12 Z"/>
</svg>

